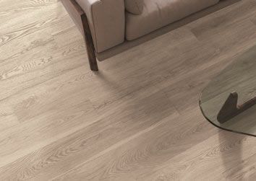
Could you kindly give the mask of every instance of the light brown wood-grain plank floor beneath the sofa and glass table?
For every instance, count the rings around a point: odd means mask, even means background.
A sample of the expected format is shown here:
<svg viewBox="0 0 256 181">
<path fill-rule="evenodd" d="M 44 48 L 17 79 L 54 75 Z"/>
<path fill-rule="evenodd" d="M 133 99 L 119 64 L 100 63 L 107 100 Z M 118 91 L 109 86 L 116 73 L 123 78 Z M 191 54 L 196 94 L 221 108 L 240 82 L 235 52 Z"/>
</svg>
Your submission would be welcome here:
<svg viewBox="0 0 256 181">
<path fill-rule="evenodd" d="M 242 0 L 93 73 L 59 0 L 0 0 L 0 180 L 256 180 L 256 138 L 198 106 L 255 44 Z"/>
</svg>

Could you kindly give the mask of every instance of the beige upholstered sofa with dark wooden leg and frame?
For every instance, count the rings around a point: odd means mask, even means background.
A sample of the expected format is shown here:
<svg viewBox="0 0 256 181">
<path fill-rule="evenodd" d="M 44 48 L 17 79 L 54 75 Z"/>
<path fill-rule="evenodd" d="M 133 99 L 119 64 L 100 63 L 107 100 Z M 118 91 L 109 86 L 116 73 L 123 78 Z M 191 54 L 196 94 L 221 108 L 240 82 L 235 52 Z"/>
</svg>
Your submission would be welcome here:
<svg viewBox="0 0 256 181">
<path fill-rule="evenodd" d="M 127 1 L 142 1 L 141 12 L 129 12 Z M 91 70 L 98 71 L 96 57 L 101 61 L 114 56 L 161 35 L 171 24 L 174 24 L 171 29 L 179 27 L 186 22 L 185 17 L 219 1 L 62 0 L 62 3 L 85 37 Z"/>
</svg>

